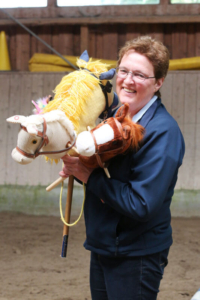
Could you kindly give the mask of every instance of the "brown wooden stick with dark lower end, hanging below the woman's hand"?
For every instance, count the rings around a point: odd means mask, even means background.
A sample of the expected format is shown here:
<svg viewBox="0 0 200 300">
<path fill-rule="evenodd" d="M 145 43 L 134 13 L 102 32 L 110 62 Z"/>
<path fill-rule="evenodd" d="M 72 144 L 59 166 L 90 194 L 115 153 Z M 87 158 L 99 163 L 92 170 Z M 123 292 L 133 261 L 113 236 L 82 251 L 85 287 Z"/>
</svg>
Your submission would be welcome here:
<svg viewBox="0 0 200 300">
<path fill-rule="evenodd" d="M 70 223 L 73 186 L 74 186 L 74 176 L 70 175 L 68 181 L 67 200 L 65 206 L 65 221 L 67 223 Z M 64 224 L 61 257 L 67 256 L 68 236 L 69 236 L 69 226 Z"/>
</svg>

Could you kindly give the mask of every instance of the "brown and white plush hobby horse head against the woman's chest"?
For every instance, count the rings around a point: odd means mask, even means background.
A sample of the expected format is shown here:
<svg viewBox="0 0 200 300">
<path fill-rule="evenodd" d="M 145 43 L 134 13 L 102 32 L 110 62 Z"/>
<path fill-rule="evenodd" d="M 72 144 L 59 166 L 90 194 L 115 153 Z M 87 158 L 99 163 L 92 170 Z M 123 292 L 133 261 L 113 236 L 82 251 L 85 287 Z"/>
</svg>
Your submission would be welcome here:
<svg viewBox="0 0 200 300">
<path fill-rule="evenodd" d="M 137 150 L 144 128 L 128 116 L 129 105 L 121 106 L 115 117 L 108 118 L 90 131 L 81 132 L 76 141 L 79 158 L 87 167 L 105 167 L 112 157 Z"/>
</svg>

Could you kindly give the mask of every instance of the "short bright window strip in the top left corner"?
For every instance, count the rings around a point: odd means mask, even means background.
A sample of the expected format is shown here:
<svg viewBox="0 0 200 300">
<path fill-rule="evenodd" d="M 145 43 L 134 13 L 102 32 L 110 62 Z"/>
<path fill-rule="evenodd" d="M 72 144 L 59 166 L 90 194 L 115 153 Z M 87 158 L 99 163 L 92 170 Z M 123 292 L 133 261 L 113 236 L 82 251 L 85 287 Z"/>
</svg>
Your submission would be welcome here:
<svg viewBox="0 0 200 300">
<path fill-rule="evenodd" d="M 4 3 L 1 3 L 4 2 Z M 46 7 L 47 0 L 6 0 L 0 1 L 1 8 L 10 7 Z"/>
</svg>

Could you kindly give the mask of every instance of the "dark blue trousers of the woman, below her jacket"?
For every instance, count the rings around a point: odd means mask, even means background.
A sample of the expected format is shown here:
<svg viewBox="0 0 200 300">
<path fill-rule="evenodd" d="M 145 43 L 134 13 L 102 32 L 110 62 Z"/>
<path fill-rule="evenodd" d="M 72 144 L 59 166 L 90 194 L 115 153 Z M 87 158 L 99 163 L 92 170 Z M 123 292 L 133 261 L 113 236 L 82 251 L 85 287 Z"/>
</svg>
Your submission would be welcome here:
<svg viewBox="0 0 200 300">
<path fill-rule="evenodd" d="M 92 252 L 92 300 L 156 300 L 168 252 L 141 257 L 107 257 Z"/>
</svg>

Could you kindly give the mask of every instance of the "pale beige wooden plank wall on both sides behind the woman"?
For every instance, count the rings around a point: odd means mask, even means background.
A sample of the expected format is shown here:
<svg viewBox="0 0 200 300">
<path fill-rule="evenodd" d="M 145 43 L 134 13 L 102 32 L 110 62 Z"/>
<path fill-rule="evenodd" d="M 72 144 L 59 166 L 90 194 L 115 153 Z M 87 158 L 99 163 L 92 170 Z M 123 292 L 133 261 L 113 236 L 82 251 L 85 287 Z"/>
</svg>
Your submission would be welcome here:
<svg viewBox="0 0 200 300">
<path fill-rule="evenodd" d="M 57 179 L 61 164 L 51 166 L 41 157 L 25 166 L 12 160 L 10 154 L 16 146 L 19 126 L 6 123 L 5 119 L 14 114 L 31 114 L 31 100 L 52 94 L 63 76 L 64 73 L 0 74 L 0 184 L 47 185 Z M 186 143 L 177 188 L 200 189 L 200 71 L 169 72 L 161 93 L 163 103 L 178 122 Z"/>
</svg>

